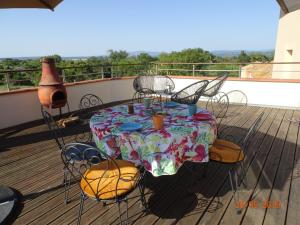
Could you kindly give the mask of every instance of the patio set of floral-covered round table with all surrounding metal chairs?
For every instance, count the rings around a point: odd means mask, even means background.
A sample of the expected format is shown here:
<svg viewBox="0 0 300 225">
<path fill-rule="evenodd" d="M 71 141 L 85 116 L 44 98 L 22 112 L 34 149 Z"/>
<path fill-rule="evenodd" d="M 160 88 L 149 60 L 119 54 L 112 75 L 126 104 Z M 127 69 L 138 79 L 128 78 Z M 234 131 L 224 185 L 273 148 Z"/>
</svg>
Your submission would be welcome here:
<svg viewBox="0 0 300 225">
<path fill-rule="evenodd" d="M 103 102 L 99 97 L 87 94 L 81 99 L 79 108 L 84 112 L 81 117 L 90 119 L 88 141 L 93 137 L 93 144 L 87 141 L 66 144 L 61 128 L 42 108 L 43 117 L 54 135 L 64 163 L 65 203 L 68 203 L 71 179 L 77 181 L 80 187 L 78 224 L 84 201 L 88 198 L 103 204 L 111 201 L 117 203 L 120 222 L 126 222 L 128 195 L 136 187 L 147 210 L 143 184 L 145 173 L 156 177 L 173 175 L 186 161 L 215 161 L 233 166 L 240 164 L 241 174 L 238 175 L 234 169 L 229 171 L 234 198 L 238 201 L 236 192 L 245 175 L 244 151 L 263 114 L 253 123 L 242 141 L 228 141 L 226 139 L 229 136 L 221 139 L 219 127 L 229 101 L 226 94 L 221 94 L 216 101 L 212 98 L 216 97 L 226 78 L 225 75 L 212 81 L 198 81 L 174 92 L 174 82 L 167 76 L 139 76 L 133 82 L 136 93 L 131 108 L 123 104 L 92 113 L 87 109 Z M 207 106 L 212 106 L 212 111 L 197 107 L 191 111 L 191 105 L 195 105 L 201 96 L 210 98 Z M 149 98 L 153 100 L 150 104 L 147 101 Z M 163 98 L 170 101 L 162 102 Z M 153 114 L 160 114 L 163 120 L 161 127 L 153 125 Z M 122 218 L 120 207 L 122 202 L 126 203 L 125 219 Z"/>
</svg>

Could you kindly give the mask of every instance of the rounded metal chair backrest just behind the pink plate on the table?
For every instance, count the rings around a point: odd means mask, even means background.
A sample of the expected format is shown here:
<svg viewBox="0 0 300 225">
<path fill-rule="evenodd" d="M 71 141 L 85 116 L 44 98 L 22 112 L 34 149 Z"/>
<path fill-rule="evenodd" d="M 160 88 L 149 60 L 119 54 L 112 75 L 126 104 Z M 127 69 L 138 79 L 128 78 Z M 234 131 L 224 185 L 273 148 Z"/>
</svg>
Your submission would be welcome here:
<svg viewBox="0 0 300 225">
<path fill-rule="evenodd" d="M 217 119 L 217 127 L 220 126 L 222 120 L 226 117 L 229 107 L 229 98 L 225 93 L 218 93 L 209 98 L 206 103 L 206 109 L 213 113 Z"/>
</svg>

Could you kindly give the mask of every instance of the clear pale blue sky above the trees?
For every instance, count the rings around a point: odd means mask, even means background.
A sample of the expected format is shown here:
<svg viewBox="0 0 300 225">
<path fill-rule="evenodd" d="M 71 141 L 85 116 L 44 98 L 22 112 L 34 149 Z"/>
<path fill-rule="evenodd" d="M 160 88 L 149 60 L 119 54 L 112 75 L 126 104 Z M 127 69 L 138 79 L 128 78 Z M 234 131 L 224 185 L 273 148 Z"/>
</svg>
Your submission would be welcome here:
<svg viewBox="0 0 300 225">
<path fill-rule="evenodd" d="M 54 12 L 0 9 L 0 58 L 267 50 L 278 19 L 275 0 L 64 0 Z"/>
</svg>

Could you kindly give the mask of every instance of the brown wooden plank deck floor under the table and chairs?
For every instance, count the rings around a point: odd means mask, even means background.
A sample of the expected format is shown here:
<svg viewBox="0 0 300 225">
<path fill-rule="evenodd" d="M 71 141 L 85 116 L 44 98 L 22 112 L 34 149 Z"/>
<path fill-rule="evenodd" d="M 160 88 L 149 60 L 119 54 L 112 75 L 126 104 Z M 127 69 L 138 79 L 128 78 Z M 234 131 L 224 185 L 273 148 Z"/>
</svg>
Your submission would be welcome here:
<svg viewBox="0 0 300 225">
<path fill-rule="evenodd" d="M 259 132 L 247 151 L 247 188 L 240 191 L 244 208 L 237 214 L 227 179 L 227 165 L 210 162 L 207 176 L 203 165 L 187 164 L 199 173 L 192 176 L 182 167 L 174 176 L 148 175 L 147 200 L 150 213 L 142 211 L 138 192 L 130 195 L 130 224 L 300 224 L 300 111 L 231 106 L 224 127 L 245 130 L 265 112 Z M 67 139 L 77 131 L 67 132 Z M 236 133 L 239 135 L 240 133 Z M 9 185 L 22 196 L 22 206 L 12 224 L 75 224 L 79 189 L 73 184 L 71 201 L 63 202 L 62 162 L 47 127 L 35 123 L 1 132 L 0 184 Z M 124 208 L 123 208 L 124 209 Z M 82 224 L 117 224 L 116 205 L 85 201 Z"/>
</svg>

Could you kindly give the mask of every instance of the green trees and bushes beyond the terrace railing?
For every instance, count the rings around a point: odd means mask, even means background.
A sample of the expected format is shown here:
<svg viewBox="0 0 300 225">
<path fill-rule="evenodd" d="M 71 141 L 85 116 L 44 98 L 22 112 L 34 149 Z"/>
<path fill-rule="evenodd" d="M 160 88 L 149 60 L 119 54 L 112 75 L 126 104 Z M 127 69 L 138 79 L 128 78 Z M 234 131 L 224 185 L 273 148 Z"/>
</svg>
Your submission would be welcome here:
<svg viewBox="0 0 300 225">
<path fill-rule="evenodd" d="M 161 74 L 168 75 L 195 75 L 217 76 L 224 74 L 226 70 L 234 70 L 229 75 L 237 76 L 239 65 L 228 65 L 230 63 L 250 63 L 268 62 L 273 59 L 273 55 L 263 53 L 247 54 L 241 51 L 237 57 L 219 57 L 201 48 L 189 48 L 171 53 L 161 53 L 158 57 L 153 57 L 147 53 L 140 53 L 137 56 L 130 56 L 128 52 L 119 50 L 108 50 L 107 56 L 89 57 L 87 59 L 67 60 L 59 55 L 53 55 L 56 66 L 63 68 L 66 82 L 97 79 L 112 76 L 135 76 L 143 73 L 155 71 L 155 64 L 159 64 Z M 210 63 L 222 64 L 210 64 Z M 162 63 L 162 64 L 160 64 Z M 163 64 L 166 63 L 166 64 Z M 185 64 L 186 63 L 186 64 Z M 194 66 L 190 63 L 196 63 Z M 197 64 L 199 63 L 199 64 Z M 208 63 L 208 64 L 201 64 Z M 130 65 L 128 65 L 130 64 Z M 5 83 L 3 70 L 26 70 L 36 69 L 36 71 L 14 72 L 10 74 L 11 85 L 37 86 L 41 76 L 40 59 L 3 59 L 0 61 L 0 83 Z M 197 71 L 201 70 L 201 71 Z M 213 71 L 203 71 L 213 70 Z"/>
</svg>

